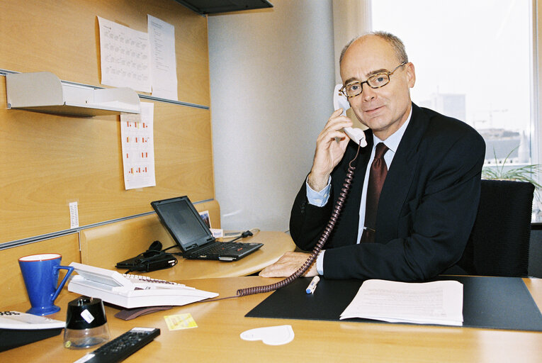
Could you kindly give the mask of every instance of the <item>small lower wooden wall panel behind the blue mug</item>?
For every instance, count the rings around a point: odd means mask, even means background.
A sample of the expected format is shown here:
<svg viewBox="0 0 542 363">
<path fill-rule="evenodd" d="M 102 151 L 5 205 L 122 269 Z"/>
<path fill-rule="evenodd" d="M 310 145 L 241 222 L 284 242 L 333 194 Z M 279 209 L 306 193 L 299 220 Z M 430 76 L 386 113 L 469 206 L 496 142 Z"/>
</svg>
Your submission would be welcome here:
<svg viewBox="0 0 542 363">
<path fill-rule="evenodd" d="M 18 258 L 38 253 L 60 253 L 62 255 L 60 264 L 62 266 L 67 266 L 72 262 L 81 262 L 77 233 L 1 250 L 2 287 L 0 289 L 0 303 L 2 306 L 28 302 L 28 308 L 30 308 L 30 301 L 28 301 L 28 294 L 26 294 Z M 60 270 L 60 278 L 64 277 L 65 272 L 66 270 Z M 67 289 L 63 289 L 60 294 L 65 294 L 66 291 Z"/>
</svg>

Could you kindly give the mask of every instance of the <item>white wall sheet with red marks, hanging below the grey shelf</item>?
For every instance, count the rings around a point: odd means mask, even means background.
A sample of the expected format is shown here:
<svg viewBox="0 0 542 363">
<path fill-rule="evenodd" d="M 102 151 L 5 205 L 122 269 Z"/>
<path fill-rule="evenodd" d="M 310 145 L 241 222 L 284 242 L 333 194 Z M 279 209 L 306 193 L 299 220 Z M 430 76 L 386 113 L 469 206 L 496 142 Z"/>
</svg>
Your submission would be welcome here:
<svg viewBox="0 0 542 363">
<path fill-rule="evenodd" d="M 125 189 L 155 186 L 154 104 L 141 103 L 141 113 L 120 115 Z"/>
</svg>

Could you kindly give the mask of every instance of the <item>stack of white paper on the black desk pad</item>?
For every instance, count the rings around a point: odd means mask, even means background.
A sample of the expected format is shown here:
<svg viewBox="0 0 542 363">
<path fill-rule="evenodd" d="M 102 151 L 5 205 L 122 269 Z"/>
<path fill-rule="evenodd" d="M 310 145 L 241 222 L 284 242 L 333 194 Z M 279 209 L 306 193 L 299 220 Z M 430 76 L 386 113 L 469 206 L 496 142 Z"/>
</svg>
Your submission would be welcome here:
<svg viewBox="0 0 542 363">
<path fill-rule="evenodd" d="M 458 281 L 367 280 L 341 314 L 341 319 L 349 318 L 463 325 L 463 284 Z"/>
</svg>

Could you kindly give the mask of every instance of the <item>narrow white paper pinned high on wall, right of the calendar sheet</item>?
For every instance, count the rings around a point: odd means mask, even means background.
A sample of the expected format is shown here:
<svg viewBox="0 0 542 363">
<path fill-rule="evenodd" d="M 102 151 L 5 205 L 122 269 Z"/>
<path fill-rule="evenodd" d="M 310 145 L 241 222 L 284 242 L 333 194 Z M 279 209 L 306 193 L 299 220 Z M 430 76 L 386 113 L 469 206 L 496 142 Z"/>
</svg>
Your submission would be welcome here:
<svg viewBox="0 0 542 363">
<path fill-rule="evenodd" d="M 175 27 L 147 14 L 151 50 L 152 96 L 178 101 Z"/>
</svg>

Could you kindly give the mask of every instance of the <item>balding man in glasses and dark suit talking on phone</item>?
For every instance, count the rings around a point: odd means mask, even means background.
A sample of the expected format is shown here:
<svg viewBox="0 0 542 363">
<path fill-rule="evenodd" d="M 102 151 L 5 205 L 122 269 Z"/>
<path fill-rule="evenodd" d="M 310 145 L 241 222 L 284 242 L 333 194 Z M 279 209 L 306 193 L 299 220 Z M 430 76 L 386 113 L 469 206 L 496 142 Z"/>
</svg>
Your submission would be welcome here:
<svg viewBox="0 0 542 363">
<path fill-rule="evenodd" d="M 415 281 L 441 274 L 459 261 L 473 227 L 485 143 L 465 123 L 412 103 L 414 65 L 394 35 L 371 33 L 349 43 L 340 69 L 342 92 L 369 128 L 368 145 L 353 162 L 354 179 L 324 251 L 305 276 Z M 358 150 L 342 131 L 351 125 L 337 110 L 317 138 L 290 216 L 290 233 L 302 250 L 316 245 L 339 199 Z M 377 150 L 383 156 L 375 157 Z M 379 196 L 378 187 L 368 186 L 373 162 L 387 169 Z M 374 208 L 368 199 L 376 200 Z M 290 252 L 260 275 L 289 276 L 307 257 Z"/>
</svg>

